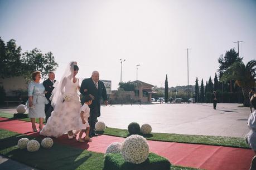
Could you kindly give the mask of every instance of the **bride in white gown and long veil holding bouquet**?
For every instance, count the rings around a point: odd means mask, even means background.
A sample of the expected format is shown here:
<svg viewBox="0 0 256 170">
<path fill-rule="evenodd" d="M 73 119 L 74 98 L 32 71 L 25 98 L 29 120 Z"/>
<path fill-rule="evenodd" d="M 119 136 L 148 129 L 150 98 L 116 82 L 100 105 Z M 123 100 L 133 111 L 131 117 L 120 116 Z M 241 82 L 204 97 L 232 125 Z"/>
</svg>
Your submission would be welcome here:
<svg viewBox="0 0 256 170">
<path fill-rule="evenodd" d="M 43 136 L 60 137 L 67 132 L 69 139 L 74 138 L 73 130 L 83 128 L 80 118 L 81 103 L 78 96 L 79 79 L 76 62 L 71 62 L 64 72 L 59 84 L 55 83 L 51 104 L 54 111 L 40 132 Z"/>
</svg>

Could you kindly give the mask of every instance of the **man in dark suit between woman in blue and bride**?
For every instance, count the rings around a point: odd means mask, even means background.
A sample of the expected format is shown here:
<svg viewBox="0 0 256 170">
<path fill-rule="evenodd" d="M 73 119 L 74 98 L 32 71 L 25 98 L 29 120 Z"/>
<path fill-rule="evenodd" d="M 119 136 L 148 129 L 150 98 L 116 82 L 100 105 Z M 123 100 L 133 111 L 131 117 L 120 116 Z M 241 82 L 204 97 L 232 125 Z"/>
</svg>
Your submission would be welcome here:
<svg viewBox="0 0 256 170">
<path fill-rule="evenodd" d="M 47 100 L 49 101 L 48 104 L 45 104 L 45 122 L 47 122 L 48 118 L 51 116 L 51 112 L 54 110 L 54 108 L 51 106 L 51 101 L 50 101 L 50 97 L 51 97 L 51 92 L 54 89 L 53 85 L 56 82 L 55 80 L 55 74 L 54 72 L 50 72 L 48 74 L 48 77 L 44 82 L 44 87 L 45 87 L 45 91 L 47 92 L 45 94 L 45 97 L 47 98 Z"/>
</svg>

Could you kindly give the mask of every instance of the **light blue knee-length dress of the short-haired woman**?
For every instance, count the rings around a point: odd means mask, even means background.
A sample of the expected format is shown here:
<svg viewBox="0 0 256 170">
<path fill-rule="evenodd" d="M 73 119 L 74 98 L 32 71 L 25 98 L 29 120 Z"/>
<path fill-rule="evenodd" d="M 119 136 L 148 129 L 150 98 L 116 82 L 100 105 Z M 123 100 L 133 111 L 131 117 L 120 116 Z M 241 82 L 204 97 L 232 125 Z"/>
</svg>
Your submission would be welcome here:
<svg viewBox="0 0 256 170">
<path fill-rule="evenodd" d="M 28 85 L 28 97 L 33 96 L 33 106 L 28 107 L 28 117 L 30 118 L 44 118 L 45 104 L 48 103 L 45 97 L 45 87 L 41 83 L 31 81 Z M 27 104 L 28 105 L 28 104 Z"/>
</svg>

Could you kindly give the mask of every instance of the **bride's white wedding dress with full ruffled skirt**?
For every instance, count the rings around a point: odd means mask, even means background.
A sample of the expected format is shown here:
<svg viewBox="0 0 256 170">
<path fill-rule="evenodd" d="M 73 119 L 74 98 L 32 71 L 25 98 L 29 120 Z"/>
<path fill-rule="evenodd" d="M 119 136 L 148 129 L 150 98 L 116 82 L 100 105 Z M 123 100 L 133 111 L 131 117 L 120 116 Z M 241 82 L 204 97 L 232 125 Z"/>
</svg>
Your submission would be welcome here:
<svg viewBox="0 0 256 170">
<path fill-rule="evenodd" d="M 79 87 L 78 78 L 76 78 L 75 83 L 73 83 L 73 78 L 66 77 L 65 79 L 65 83 L 61 87 L 63 92 L 60 97 L 63 98 L 65 94 L 70 94 L 71 100 L 60 102 L 58 106 L 54 107 L 51 117 L 40 132 L 43 136 L 57 138 L 68 131 L 83 129 L 80 117 L 81 103 L 77 93 Z"/>
</svg>

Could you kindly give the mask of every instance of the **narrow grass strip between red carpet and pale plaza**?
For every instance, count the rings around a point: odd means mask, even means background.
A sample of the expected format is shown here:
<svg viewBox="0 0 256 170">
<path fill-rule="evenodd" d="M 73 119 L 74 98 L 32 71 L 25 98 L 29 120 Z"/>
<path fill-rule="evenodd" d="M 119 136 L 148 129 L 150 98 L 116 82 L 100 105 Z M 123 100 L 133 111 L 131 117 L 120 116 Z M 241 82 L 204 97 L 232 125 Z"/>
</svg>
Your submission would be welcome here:
<svg viewBox="0 0 256 170">
<path fill-rule="evenodd" d="M 12 114 L 0 112 L 0 117 L 12 118 Z M 30 122 L 30 118 L 20 119 L 22 121 Z M 36 119 L 38 123 L 38 119 Z M 107 134 L 110 136 L 124 137 L 129 136 L 127 129 L 117 129 L 107 127 L 104 132 L 100 134 Z M 221 136 L 202 136 L 202 135 L 189 135 L 189 134 L 175 134 L 175 133 L 151 133 L 141 134 L 144 138 L 152 141 L 165 141 L 165 142 L 178 142 L 178 143 L 194 143 L 194 144 L 207 144 L 215 146 L 227 146 L 236 148 L 249 148 L 245 143 L 244 138 L 238 137 L 221 137 Z"/>
</svg>

